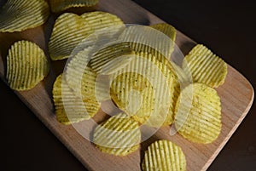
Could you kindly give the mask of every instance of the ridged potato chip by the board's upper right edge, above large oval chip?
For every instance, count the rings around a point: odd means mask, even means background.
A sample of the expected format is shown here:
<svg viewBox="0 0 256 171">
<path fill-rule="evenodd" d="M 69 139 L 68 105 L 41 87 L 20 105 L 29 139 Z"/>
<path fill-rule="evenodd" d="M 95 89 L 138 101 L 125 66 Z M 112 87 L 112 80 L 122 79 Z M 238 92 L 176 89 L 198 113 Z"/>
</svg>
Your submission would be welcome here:
<svg viewBox="0 0 256 171">
<path fill-rule="evenodd" d="M 191 73 L 194 83 L 217 88 L 224 83 L 227 64 L 204 45 L 198 44 L 183 60 L 183 70 Z"/>
</svg>

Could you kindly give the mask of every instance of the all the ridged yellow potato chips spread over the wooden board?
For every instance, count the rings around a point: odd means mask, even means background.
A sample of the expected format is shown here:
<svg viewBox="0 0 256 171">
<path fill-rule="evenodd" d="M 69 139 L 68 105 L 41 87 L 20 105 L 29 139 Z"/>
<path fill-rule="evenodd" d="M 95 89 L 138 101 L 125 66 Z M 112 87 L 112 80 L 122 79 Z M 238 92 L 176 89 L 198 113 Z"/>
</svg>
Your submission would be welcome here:
<svg viewBox="0 0 256 171">
<path fill-rule="evenodd" d="M 91 7 L 97 0 L 50 1 L 54 13 Z M 24 31 L 49 17 L 44 0 L 9 0 L 0 12 L 0 31 Z M 217 88 L 227 65 L 205 46 L 196 45 L 182 66 L 171 60 L 176 30 L 168 24 L 125 26 L 114 14 L 96 11 L 61 14 L 49 39 L 51 60 L 67 59 L 65 71 L 53 85 L 56 118 L 72 124 L 89 120 L 104 101 L 119 113 L 93 132 L 96 147 L 126 156 L 142 141 L 141 125 L 175 125 L 183 138 L 208 144 L 221 131 Z M 49 73 L 49 60 L 37 44 L 14 43 L 7 57 L 7 81 L 15 90 L 34 88 Z M 168 140 L 148 146 L 143 170 L 186 170 L 182 149 Z"/>
</svg>

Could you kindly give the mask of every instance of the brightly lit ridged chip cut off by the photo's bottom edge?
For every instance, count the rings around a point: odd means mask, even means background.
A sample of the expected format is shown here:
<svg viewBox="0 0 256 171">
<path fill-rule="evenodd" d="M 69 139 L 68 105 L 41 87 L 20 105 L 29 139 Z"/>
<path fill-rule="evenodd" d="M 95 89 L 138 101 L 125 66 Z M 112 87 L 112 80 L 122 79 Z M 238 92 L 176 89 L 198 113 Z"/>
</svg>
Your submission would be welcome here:
<svg viewBox="0 0 256 171">
<path fill-rule="evenodd" d="M 186 158 L 178 145 L 169 140 L 157 140 L 145 151 L 143 171 L 185 171 Z"/>
</svg>

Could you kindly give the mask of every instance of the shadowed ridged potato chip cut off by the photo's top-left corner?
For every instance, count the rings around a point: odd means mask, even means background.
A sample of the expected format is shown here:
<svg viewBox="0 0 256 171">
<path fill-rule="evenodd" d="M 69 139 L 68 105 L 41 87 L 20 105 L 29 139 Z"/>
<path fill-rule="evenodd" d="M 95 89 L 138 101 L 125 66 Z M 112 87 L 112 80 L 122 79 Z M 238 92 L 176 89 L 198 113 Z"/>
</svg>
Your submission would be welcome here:
<svg viewBox="0 0 256 171">
<path fill-rule="evenodd" d="M 0 11 L 0 32 L 24 31 L 43 25 L 49 17 L 44 0 L 8 0 Z"/>
</svg>

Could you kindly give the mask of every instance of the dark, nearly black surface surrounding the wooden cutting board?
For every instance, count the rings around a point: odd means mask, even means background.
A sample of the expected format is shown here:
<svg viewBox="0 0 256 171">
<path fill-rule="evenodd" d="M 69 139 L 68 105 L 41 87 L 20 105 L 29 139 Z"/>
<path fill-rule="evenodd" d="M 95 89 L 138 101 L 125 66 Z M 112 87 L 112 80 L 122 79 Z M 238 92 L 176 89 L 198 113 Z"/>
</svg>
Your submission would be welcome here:
<svg viewBox="0 0 256 171">
<path fill-rule="evenodd" d="M 256 5 L 249 1 L 135 0 L 220 55 L 256 88 Z M 84 166 L 51 134 L 12 90 L 0 81 L 1 170 L 84 171 Z M 236 130 L 210 171 L 256 169 L 256 106 Z"/>
</svg>

